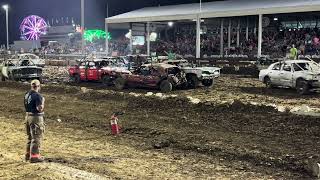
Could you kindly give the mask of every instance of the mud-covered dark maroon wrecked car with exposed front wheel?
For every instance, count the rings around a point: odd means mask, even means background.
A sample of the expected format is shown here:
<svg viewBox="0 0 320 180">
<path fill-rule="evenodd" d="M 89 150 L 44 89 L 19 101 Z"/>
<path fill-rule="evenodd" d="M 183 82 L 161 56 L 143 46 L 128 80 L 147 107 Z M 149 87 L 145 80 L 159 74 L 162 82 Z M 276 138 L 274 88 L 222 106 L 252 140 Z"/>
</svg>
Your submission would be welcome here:
<svg viewBox="0 0 320 180">
<path fill-rule="evenodd" d="M 137 68 L 133 73 L 122 73 L 114 81 L 117 89 L 126 86 L 157 88 L 161 92 L 170 92 L 178 86 L 185 86 L 185 74 L 177 66 L 170 64 L 146 64 Z"/>
</svg>

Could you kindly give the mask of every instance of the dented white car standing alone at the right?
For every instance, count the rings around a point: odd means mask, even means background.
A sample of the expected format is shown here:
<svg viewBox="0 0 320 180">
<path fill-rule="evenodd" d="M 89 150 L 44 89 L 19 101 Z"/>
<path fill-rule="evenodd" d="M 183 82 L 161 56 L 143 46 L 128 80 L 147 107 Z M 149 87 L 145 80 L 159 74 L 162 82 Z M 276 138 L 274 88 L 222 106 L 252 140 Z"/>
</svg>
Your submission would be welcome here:
<svg viewBox="0 0 320 180">
<path fill-rule="evenodd" d="M 294 88 L 306 94 L 320 88 L 320 65 L 309 60 L 286 60 L 260 71 L 259 80 L 268 88 Z"/>
</svg>

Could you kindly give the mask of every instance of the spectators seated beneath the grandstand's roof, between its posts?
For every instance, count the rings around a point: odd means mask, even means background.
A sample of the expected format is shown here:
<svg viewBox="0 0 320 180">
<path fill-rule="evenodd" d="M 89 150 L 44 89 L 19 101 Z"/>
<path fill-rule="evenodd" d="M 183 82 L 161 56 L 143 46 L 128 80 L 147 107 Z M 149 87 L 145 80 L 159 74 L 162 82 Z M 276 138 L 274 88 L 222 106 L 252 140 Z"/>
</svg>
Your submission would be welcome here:
<svg viewBox="0 0 320 180">
<path fill-rule="evenodd" d="M 232 32 L 230 48 L 228 34 L 224 34 L 224 54 L 255 56 L 257 54 L 257 35 L 250 32 L 248 40 L 245 32 L 240 32 L 239 46 L 237 33 Z M 314 29 L 267 29 L 263 32 L 262 54 L 270 57 L 285 57 L 292 45 L 298 49 L 299 55 L 320 55 L 320 31 Z M 180 55 L 195 55 L 196 35 L 194 31 L 177 32 L 173 40 L 159 39 L 151 43 L 151 52 L 166 55 L 173 52 Z M 201 35 L 201 52 L 204 56 L 220 54 L 220 34 Z"/>
</svg>

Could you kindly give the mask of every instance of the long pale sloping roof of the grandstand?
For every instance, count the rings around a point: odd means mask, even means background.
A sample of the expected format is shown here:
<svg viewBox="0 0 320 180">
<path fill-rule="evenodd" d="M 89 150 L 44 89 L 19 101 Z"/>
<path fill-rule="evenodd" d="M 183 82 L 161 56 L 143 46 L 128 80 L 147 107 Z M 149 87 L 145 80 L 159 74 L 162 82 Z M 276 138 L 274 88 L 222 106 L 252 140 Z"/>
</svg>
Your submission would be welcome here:
<svg viewBox="0 0 320 180">
<path fill-rule="evenodd" d="M 106 18 L 107 23 L 192 20 L 320 11 L 320 0 L 227 0 L 173 6 L 147 7 Z"/>
</svg>

